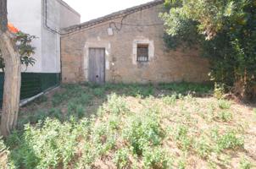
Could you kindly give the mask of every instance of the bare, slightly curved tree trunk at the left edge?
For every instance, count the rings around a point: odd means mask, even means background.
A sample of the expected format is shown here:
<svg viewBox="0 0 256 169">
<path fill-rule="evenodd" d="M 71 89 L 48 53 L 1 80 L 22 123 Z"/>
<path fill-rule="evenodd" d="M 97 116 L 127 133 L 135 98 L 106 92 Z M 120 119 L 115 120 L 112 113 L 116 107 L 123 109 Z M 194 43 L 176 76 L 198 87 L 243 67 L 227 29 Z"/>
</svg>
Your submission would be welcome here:
<svg viewBox="0 0 256 169">
<path fill-rule="evenodd" d="M 4 137 L 17 125 L 21 80 L 19 52 L 14 47 L 7 24 L 7 0 L 0 0 L 0 50 L 5 62 L 0 132 Z"/>
</svg>

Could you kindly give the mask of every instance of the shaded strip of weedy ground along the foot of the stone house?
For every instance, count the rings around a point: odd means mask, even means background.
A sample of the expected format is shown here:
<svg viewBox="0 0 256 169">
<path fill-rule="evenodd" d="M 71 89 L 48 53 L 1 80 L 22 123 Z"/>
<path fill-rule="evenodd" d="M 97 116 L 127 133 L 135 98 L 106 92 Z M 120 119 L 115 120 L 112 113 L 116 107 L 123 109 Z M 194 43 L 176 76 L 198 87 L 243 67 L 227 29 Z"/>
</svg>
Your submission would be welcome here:
<svg viewBox="0 0 256 169">
<path fill-rule="evenodd" d="M 42 95 L 36 101 L 22 107 L 19 113 L 19 129 L 25 123 L 38 123 L 47 117 L 54 117 L 64 122 L 70 117 L 81 119 L 97 114 L 97 109 L 113 93 L 123 96 L 147 98 L 166 95 L 208 96 L 213 85 L 193 83 L 173 83 L 159 85 L 85 83 L 80 85 L 61 85 L 58 90 Z"/>
</svg>

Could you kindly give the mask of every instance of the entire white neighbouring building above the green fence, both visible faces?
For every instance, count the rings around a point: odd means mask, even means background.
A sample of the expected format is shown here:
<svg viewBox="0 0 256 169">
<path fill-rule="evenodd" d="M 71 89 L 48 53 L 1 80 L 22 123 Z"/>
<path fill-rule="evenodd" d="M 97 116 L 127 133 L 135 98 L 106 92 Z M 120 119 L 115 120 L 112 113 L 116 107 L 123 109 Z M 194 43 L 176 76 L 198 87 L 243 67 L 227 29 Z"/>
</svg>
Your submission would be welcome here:
<svg viewBox="0 0 256 169">
<path fill-rule="evenodd" d="M 8 0 L 8 21 L 19 30 L 36 35 L 36 64 L 25 72 L 60 73 L 60 35 L 47 29 L 46 0 Z M 53 30 L 80 24 L 80 15 L 61 0 L 47 0 L 47 25 Z"/>
</svg>

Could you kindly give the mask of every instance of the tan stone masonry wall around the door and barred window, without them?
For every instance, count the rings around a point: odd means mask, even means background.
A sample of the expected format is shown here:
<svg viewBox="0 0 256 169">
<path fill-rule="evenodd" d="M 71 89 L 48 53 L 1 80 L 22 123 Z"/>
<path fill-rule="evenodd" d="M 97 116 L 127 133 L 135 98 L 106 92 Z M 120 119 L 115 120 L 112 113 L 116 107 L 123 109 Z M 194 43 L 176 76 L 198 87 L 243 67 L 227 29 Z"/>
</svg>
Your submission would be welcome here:
<svg viewBox="0 0 256 169">
<path fill-rule="evenodd" d="M 122 18 L 64 35 L 61 38 L 63 83 L 87 81 L 90 47 L 106 50 L 107 82 L 208 81 L 209 62 L 206 58 L 199 57 L 197 51 L 169 51 L 164 46 L 164 26 L 159 19 L 162 9 L 163 5 L 158 5 L 128 15 L 123 19 L 120 31 L 110 23 L 120 23 Z M 109 24 L 114 35 L 108 34 Z M 149 44 L 148 63 L 136 62 L 136 43 Z"/>
</svg>

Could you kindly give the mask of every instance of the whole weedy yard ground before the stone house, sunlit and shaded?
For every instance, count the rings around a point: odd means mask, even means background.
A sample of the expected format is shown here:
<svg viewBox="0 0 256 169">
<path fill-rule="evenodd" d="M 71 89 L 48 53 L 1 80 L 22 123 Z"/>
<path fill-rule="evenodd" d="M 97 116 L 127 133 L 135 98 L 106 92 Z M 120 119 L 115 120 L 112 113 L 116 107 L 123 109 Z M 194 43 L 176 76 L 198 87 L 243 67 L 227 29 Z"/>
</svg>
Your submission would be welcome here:
<svg viewBox="0 0 256 169">
<path fill-rule="evenodd" d="M 63 85 L 21 109 L 18 130 L 0 139 L 0 166 L 253 168 L 253 110 L 211 92 L 186 83 Z"/>
</svg>

